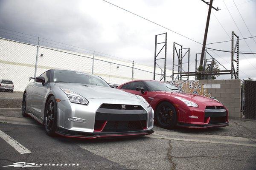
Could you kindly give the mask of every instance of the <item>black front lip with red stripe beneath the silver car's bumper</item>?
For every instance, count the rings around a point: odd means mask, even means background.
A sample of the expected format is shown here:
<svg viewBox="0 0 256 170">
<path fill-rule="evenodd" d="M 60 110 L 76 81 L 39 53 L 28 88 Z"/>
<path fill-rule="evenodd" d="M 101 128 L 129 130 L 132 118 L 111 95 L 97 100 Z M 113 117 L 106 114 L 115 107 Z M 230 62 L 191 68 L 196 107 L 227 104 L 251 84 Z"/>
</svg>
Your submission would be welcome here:
<svg viewBox="0 0 256 170">
<path fill-rule="evenodd" d="M 58 127 L 55 132 L 58 135 L 64 137 L 72 137 L 72 138 L 81 138 L 81 139 L 111 139 L 111 138 L 125 138 L 125 137 L 135 137 L 135 136 L 145 136 L 154 133 L 154 130 L 142 130 L 142 131 L 134 131 L 134 132 L 112 132 L 112 133 L 84 133 L 73 130 L 66 130 Z"/>
</svg>

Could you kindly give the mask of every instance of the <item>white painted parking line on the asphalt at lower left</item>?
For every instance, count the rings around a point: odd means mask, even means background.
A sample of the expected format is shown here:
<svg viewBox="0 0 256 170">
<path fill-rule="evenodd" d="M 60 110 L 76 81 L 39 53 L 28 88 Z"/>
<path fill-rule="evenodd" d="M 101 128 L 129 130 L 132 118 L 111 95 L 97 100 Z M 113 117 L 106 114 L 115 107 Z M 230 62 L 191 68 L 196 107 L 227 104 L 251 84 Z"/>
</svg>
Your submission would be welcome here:
<svg viewBox="0 0 256 170">
<path fill-rule="evenodd" d="M 17 150 L 20 154 L 31 153 L 26 147 L 24 147 L 19 142 L 12 139 L 12 137 L 8 136 L 6 133 L 0 130 L 0 137 L 5 140 L 8 144 L 10 144 L 15 150 Z"/>
</svg>

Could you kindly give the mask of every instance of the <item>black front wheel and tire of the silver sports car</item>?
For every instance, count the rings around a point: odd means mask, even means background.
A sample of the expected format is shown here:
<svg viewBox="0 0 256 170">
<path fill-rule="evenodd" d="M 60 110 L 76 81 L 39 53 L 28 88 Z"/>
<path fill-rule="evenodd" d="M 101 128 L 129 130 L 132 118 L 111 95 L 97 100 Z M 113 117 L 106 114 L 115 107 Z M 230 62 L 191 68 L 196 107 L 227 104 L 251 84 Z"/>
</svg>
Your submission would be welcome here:
<svg viewBox="0 0 256 170">
<path fill-rule="evenodd" d="M 44 129 L 48 136 L 55 136 L 58 122 L 57 102 L 54 96 L 51 96 L 46 103 L 44 111 Z"/>
</svg>

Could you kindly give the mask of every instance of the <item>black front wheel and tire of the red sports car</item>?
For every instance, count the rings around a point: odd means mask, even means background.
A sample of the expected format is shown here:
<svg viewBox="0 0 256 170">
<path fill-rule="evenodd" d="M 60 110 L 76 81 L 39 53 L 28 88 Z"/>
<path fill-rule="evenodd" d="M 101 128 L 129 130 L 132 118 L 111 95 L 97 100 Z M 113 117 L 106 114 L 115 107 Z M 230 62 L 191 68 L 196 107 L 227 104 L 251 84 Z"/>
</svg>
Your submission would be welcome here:
<svg viewBox="0 0 256 170">
<path fill-rule="evenodd" d="M 156 111 L 157 124 L 165 129 L 172 129 L 177 125 L 177 113 L 169 102 L 162 102 Z"/>
</svg>

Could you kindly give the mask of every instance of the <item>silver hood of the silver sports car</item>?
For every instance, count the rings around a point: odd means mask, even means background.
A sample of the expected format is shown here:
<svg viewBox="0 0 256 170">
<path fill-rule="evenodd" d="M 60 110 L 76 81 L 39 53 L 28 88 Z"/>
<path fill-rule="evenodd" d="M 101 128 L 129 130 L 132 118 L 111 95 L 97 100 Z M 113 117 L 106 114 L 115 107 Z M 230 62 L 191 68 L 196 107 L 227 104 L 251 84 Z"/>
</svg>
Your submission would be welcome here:
<svg viewBox="0 0 256 170">
<path fill-rule="evenodd" d="M 127 93 L 125 91 L 118 90 L 116 88 L 108 88 L 99 85 L 88 85 L 78 83 L 54 83 L 59 88 L 66 88 L 77 94 L 83 96 L 86 99 L 103 98 L 103 99 L 123 99 L 134 100 L 137 96 Z"/>
</svg>

